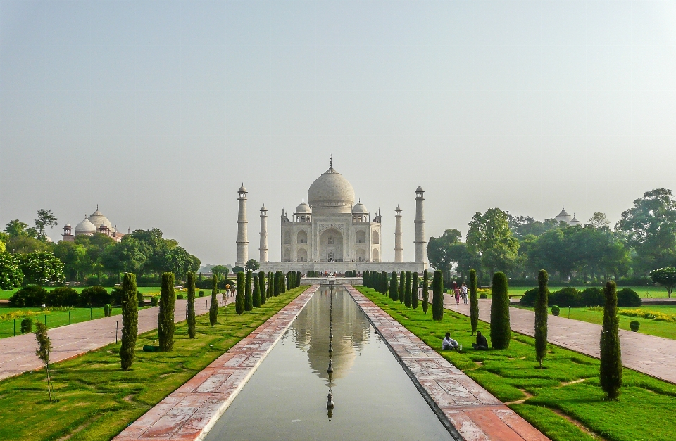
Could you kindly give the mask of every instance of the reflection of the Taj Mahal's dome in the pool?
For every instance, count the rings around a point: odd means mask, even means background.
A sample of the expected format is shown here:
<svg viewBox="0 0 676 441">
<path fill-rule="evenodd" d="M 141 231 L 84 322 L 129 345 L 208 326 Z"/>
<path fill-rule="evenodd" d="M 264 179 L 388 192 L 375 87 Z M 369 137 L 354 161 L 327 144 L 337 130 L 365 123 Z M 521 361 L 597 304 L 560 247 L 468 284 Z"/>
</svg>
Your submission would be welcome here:
<svg viewBox="0 0 676 441">
<path fill-rule="evenodd" d="M 332 378 L 335 381 L 352 367 L 356 352 L 370 337 L 371 328 L 345 288 L 333 288 L 333 291 Z M 290 329 L 296 347 L 308 352 L 311 369 L 325 380 L 329 378 L 326 366 L 329 364 L 330 292 L 330 288 L 320 288 Z"/>
</svg>

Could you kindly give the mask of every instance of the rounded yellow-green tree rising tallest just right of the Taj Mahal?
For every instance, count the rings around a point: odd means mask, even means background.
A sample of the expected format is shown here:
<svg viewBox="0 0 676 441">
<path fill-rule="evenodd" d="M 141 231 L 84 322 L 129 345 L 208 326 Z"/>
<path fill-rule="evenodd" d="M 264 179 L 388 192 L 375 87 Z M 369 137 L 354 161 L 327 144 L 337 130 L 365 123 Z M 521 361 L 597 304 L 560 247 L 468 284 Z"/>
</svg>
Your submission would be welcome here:
<svg viewBox="0 0 676 441">
<path fill-rule="evenodd" d="M 508 213 L 499 208 L 472 217 L 467 244 L 470 252 L 481 255 L 483 266 L 491 273 L 496 269 L 508 271 L 517 262 L 519 242 L 509 228 Z"/>
</svg>

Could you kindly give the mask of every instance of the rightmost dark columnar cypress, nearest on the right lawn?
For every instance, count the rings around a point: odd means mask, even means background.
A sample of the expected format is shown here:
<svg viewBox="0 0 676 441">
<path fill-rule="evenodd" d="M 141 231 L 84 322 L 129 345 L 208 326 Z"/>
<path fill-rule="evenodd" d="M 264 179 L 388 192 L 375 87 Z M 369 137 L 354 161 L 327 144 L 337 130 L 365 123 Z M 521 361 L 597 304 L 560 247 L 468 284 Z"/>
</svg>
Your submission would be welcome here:
<svg viewBox="0 0 676 441">
<path fill-rule="evenodd" d="M 618 319 L 618 288 L 608 281 L 603 288 L 606 305 L 603 307 L 601 328 L 601 388 L 608 400 L 617 400 L 622 386 L 622 351 L 620 349 L 620 321 Z"/>
</svg>

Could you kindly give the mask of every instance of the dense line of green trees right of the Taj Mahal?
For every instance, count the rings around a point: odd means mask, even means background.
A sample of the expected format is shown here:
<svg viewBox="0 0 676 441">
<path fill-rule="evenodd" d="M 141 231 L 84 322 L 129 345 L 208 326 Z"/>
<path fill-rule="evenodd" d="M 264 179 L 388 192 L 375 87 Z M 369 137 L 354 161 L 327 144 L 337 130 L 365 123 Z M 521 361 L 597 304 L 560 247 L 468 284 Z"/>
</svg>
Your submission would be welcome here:
<svg viewBox="0 0 676 441">
<path fill-rule="evenodd" d="M 650 271 L 676 267 L 676 200 L 666 188 L 648 191 L 613 227 L 600 212 L 584 225 L 570 226 L 491 208 L 477 212 L 465 241 L 461 238 L 457 229 L 430 238 L 430 264 L 465 279 L 476 269 L 484 284 L 496 271 L 535 281 L 543 268 L 558 282 L 649 281 Z"/>
</svg>

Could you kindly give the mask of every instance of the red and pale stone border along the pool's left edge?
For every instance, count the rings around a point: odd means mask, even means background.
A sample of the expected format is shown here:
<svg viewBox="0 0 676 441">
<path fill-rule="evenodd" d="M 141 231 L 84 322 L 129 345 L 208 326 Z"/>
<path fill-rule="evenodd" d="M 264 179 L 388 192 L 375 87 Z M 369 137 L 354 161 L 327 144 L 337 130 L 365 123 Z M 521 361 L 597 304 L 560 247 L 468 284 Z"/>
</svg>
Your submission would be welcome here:
<svg viewBox="0 0 676 441">
<path fill-rule="evenodd" d="M 203 439 L 318 288 L 305 290 L 113 440 Z"/>
</svg>

